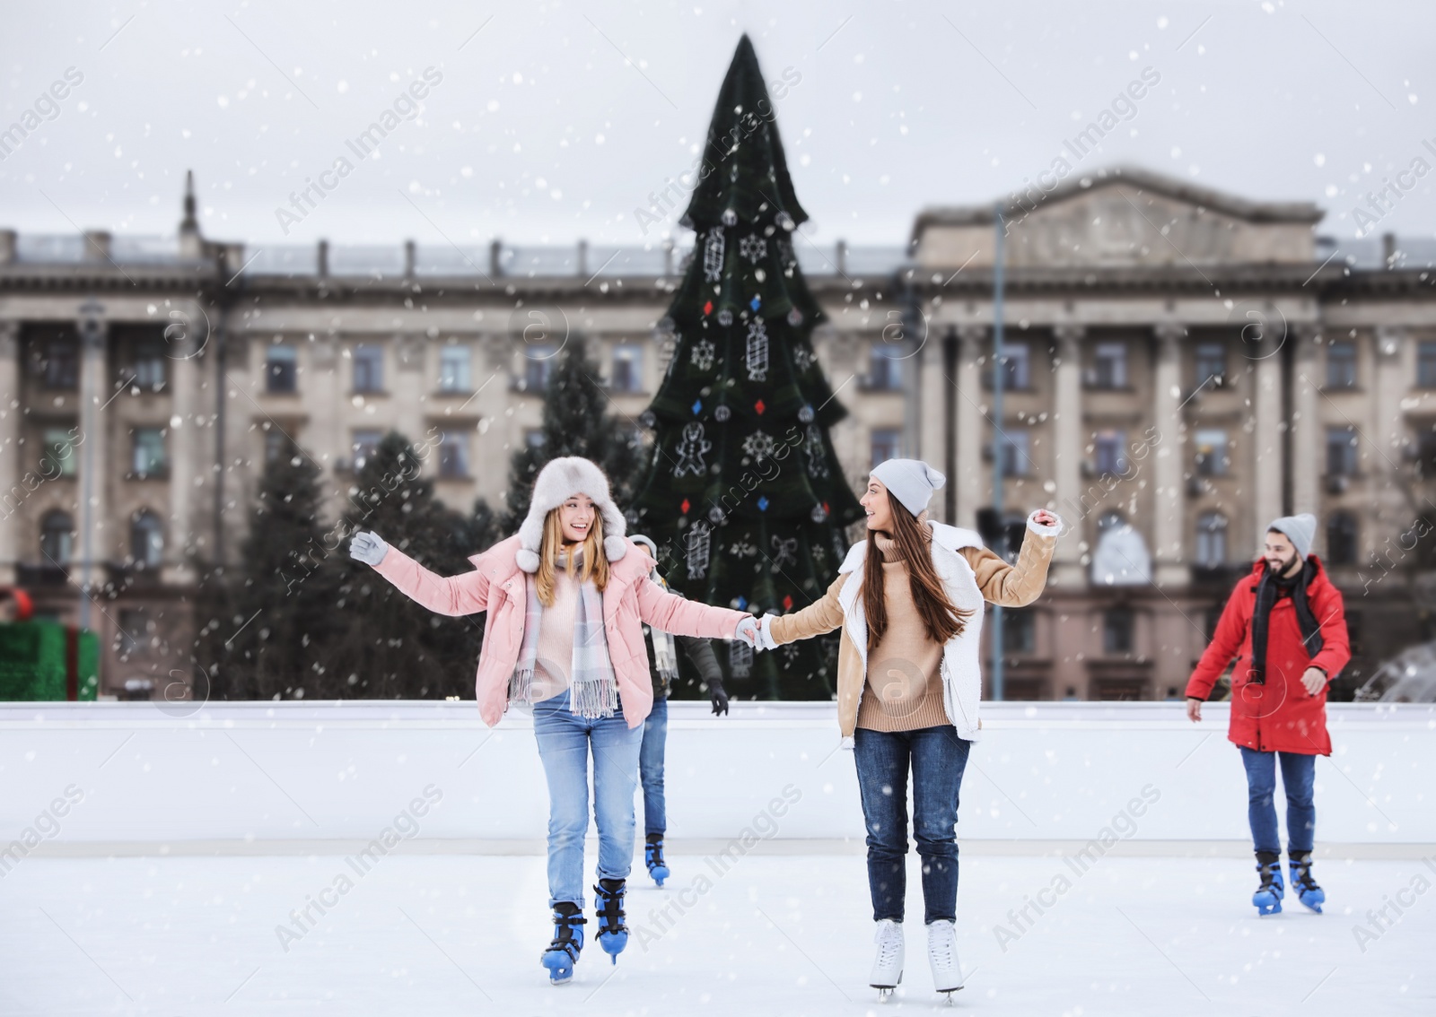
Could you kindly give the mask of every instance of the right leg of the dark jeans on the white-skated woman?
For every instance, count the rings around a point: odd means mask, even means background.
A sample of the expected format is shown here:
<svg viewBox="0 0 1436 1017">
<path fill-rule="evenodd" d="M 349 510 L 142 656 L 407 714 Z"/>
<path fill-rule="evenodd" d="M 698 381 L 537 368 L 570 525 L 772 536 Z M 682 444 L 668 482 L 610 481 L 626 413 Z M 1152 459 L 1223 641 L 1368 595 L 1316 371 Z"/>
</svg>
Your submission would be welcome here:
<svg viewBox="0 0 1436 1017">
<path fill-rule="evenodd" d="M 912 832 L 922 859 L 923 921 L 958 919 L 958 796 L 972 743 L 952 724 L 912 737 Z"/>
</svg>

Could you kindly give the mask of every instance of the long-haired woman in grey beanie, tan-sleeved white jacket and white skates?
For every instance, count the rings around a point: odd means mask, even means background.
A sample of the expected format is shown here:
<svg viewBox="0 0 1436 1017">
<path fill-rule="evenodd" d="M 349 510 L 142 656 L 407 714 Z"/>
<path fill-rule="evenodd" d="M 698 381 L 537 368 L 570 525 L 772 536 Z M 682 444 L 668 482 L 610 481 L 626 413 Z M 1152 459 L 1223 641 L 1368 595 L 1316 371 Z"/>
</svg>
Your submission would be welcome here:
<svg viewBox="0 0 1436 1017">
<path fill-rule="evenodd" d="M 1025 607 L 1047 582 L 1061 521 L 1027 519 L 1017 564 L 971 529 L 928 521 L 946 478 L 916 459 L 876 466 L 862 505 L 869 538 L 853 545 L 816 604 L 763 618 L 763 648 L 841 627 L 837 713 L 854 749 L 867 825 L 867 879 L 877 922 L 870 983 L 886 997 L 902 980 L 908 773 L 922 856 L 928 960 L 939 993 L 962 988 L 958 962 L 958 793 L 978 737 L 982 601 Z"/>
</svg>

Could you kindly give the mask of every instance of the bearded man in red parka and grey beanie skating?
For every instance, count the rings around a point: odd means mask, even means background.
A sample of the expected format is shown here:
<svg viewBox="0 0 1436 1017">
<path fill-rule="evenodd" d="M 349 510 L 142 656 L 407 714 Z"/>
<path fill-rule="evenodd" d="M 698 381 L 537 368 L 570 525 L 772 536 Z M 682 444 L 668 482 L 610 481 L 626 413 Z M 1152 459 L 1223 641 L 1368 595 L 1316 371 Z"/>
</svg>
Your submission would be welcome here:
<svg viewBox="0 0 1436 1017">
<path fill-rule="evenodd" d="M 1311 876 L 1313 780 L 1317 756 L 1331 755 L 1327 684 L 1351 660 L 1351 648 L 1341 591 L 1311 554 L 1315 532 L 1310 514 L 1282 516 L 1267 528 L 1262 557 L 1232 590 L 1212 644 L 1186 684 L 1186 716 L 1198 722 L 1212 686 L 1236 660 L 1226 737 L 1246 766 L 1246 815 L 1261 875 L 1252 904 L 1262 915 L 1281 911 L 1285 894 L 1274 803 L 1278 759 L 1292 889 L 1313 911 L 1327 899 Z"/>
</svg>

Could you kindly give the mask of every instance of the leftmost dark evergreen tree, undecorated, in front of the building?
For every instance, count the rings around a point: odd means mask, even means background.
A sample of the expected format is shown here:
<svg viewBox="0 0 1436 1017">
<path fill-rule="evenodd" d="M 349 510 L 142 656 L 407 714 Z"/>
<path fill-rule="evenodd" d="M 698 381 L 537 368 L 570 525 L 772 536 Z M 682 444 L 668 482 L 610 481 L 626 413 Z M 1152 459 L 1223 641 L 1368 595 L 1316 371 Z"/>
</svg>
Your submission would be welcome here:
<svg viewBox="0 0 1436 1017">
<path fill-rule="evenodd" d="M 208 621 L 195 660 L 211 674 L 215 699 L 302 697 L 325 673 L 342 623 L 319 479 L 319 466 L 293 445 L 267 462 L 241 564 L 228 577 L 205 574 L 200 602 Z"/>
</svg>

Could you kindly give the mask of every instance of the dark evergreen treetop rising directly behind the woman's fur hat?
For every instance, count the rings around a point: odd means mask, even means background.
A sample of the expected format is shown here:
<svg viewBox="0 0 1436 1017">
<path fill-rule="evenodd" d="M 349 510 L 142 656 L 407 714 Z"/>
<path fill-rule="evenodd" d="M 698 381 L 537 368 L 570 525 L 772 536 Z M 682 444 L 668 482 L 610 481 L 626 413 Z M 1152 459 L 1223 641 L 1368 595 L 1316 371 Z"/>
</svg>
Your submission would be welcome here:
<svg viewBox="0 0 1436 1017">
<path fill-rule="evenodd" d="M 550 459 L 583 456 L 607 473 L 613 501 L 629 503 L 633 482 L 642 463 L 639 445 L 630 427 L 609 413 L 609 394 L 599 382 L 599 366 L 589 359 L 587 341 L 570 336 L 556 354 L 549 387 L 543 399 L 543 440 L 526 445 L 513 455 L 508 470 L 508 512 L 504 532 L 518 532 L 533 496 L 534 478 Z"/>
</svg>

